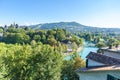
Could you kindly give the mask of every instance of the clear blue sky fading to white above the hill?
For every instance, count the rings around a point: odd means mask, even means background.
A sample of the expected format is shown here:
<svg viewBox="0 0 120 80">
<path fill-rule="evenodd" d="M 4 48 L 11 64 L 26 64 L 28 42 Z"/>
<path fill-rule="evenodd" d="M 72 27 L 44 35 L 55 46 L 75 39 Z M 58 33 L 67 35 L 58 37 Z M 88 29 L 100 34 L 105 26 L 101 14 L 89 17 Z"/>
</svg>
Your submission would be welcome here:
<svg viewBox="0 0 120 80">
<path fill-rule="evenodd" d="M 60 21 L 120 28 L 120 0 L 0 0 L 0 25 Z"/>
</svg>

